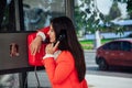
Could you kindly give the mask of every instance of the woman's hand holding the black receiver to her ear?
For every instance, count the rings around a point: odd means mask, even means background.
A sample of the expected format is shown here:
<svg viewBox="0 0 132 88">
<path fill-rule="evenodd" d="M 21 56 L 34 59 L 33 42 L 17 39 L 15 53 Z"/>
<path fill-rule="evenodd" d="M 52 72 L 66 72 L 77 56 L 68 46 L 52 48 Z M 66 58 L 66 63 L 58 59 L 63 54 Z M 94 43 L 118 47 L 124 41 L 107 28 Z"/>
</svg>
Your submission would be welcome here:
<svg viewBox="0 0 132 88">
<path fill-rule="evenodd" d="M 58 47 L 58 44 L 59 44 L 59 41 L 55 45 L 54 45 L 54 43 L 46 45 L 45 53 L 46 54 L 54 54 Z"/>
</svg>

